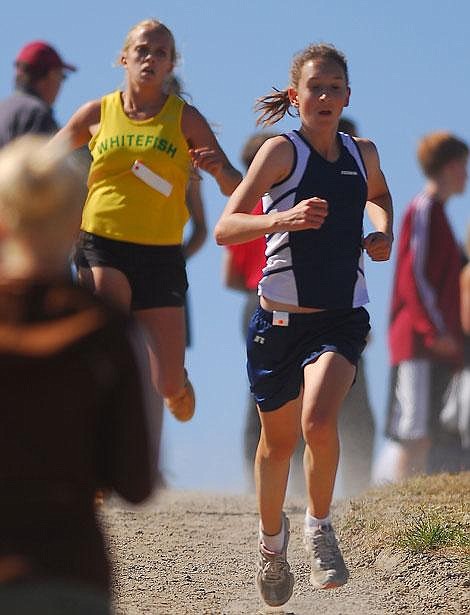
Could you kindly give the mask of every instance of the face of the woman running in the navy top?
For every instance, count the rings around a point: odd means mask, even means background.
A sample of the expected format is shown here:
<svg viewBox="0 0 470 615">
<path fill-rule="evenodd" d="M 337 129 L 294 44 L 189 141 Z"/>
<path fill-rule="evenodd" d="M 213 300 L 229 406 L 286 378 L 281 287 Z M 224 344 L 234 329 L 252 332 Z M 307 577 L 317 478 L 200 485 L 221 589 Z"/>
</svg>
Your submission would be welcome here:
<svg viewBox="0 0 470 615">
<path fill-rule="evenodd" d="M 349 94 L 343 68 L 334 60 L 324 59 L 305 62 L 297 89 L 289 90 L 302 124 L 312 127 L 337 126 Z"/>
</svg>

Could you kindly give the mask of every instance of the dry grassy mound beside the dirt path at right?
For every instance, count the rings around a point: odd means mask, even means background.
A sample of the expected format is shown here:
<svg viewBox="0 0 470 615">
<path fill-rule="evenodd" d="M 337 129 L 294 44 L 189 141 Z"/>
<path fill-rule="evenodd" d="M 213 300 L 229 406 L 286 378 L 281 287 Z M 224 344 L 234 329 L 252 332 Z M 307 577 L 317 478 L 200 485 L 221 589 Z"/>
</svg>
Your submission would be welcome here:
<svg viewBox="0 0 470 615">
<path fill-rule="evenodd" d="M 340 532 L 352 561 L 383 549 L 470 560 L 470 472 L 418 476 L 344 503 Z"/>
</svg>

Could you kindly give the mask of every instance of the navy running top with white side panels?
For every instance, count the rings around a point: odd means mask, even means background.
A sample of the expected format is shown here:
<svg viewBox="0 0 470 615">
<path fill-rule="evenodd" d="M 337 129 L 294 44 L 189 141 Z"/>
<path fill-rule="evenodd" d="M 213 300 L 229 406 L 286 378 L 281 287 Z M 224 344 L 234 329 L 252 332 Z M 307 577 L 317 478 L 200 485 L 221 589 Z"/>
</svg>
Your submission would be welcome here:
<svg viewBox="0 0 470 615">
<path fill-rule="evenodd" d="M 300 307 L 360 307 L 369 297 L 361 247 L 367 173 L 359 148 L 339 132 L 341 152 L 329 162 L 299 132 L 283 136 L 293 145 L 294 164 L 290 175 L 263 196 L 264 213 L 319 197 L 328 201 L 328 215 L 319 229 L 266 236 L 258 294 Z"/>
</svg>

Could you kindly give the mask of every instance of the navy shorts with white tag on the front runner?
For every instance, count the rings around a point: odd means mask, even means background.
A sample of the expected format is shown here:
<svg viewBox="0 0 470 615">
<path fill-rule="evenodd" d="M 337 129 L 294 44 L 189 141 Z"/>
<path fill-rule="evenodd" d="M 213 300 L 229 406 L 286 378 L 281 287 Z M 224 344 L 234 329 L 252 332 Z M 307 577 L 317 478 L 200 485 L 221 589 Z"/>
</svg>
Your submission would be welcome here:
<svg viewBox="0 0 470 615">
<path fill-rule="evenodd" d="M 370 331 L 369 314 L 363 307 L 290 313 L 287 327 L 272 321 L 272 313 L 259 307 L 247 336 L 248 378 L 261 412 L 296 399 L 304 367 L 324 352 L 337 352 L 357 365 Z"/>
</svg>

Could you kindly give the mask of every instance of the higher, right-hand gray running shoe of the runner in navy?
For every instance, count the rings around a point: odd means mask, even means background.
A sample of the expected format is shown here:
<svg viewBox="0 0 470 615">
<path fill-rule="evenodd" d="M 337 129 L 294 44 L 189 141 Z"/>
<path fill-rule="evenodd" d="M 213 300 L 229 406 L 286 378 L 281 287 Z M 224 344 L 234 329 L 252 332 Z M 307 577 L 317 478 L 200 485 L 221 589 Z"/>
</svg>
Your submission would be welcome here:
<svg viewBox="0 0 470 615">
<path fill-rule="evenodd" d="M 332 589 L 347 582 L 349 572 L 331 525 L 305 529 L 304 544 L 310 556 L 310 583 L 313 587 Z"/>
</svg>

